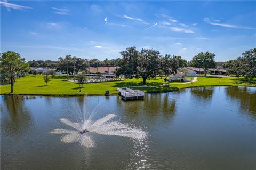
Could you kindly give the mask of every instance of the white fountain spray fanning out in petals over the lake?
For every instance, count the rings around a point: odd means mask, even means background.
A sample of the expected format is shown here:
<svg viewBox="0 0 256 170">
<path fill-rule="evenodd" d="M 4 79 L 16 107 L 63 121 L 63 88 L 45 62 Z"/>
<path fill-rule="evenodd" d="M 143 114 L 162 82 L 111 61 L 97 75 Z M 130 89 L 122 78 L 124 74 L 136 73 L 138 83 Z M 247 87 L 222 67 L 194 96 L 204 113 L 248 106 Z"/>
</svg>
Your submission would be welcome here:
<svg viewBox="0 0 256 170">
<path fill-rule="evenodd" d="M 84 119 L 81 123 L 71 122 L 68 119 L 62 118 L 60 121 L 75 130 L 71 129 L 54 129 L 51 134 L 66 134 L 61 141 L 64 143 L 80 142 L 84 147 L 93 147 L 91 133 L 102 135 L 117 135 L 130 137 L 132 139 L 142 140 L 147 137 L 147 133 L 138 128 L 133 128 L 130 125 L 122 124 L 117 121 L 110 121 L 114 118 L 114 114 L 109 114 L 99 120 L 93 122 L 89 119 Z"/>
</svg>

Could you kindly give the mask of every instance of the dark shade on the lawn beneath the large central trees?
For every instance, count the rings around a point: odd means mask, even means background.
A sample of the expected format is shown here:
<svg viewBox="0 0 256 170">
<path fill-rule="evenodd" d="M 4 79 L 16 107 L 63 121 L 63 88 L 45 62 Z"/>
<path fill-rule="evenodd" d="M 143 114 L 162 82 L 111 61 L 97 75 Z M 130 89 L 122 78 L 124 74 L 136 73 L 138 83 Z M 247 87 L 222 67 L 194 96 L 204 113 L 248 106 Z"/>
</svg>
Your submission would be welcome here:
<svg viewBox="0 0 256 170">
<path fill-rule="evenodd" d="M 130 87 L 130 86 L 160 86 L 163 85 L 163 83 L 160 82 L 146 82 L 146 84 L 143 84 L 142 81 L 141 82 L 116 82 L 115 85 L 113 85 L 112 87 Z"/>
</svg>

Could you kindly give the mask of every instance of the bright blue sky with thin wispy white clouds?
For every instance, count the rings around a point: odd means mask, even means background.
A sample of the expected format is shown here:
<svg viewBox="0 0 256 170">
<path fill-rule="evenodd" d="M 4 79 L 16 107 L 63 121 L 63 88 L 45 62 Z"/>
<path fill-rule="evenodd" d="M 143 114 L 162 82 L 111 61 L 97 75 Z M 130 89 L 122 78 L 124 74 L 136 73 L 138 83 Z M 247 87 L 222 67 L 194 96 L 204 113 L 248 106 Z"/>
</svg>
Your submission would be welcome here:
<svg viewBox="0 0 256 170">
<path fill-rule="evenodd" d="M 0 1 L 1 52 L 114 59 L 129 46 L 227 61 L 256 47 L 255 1 Z"/>
</svg>

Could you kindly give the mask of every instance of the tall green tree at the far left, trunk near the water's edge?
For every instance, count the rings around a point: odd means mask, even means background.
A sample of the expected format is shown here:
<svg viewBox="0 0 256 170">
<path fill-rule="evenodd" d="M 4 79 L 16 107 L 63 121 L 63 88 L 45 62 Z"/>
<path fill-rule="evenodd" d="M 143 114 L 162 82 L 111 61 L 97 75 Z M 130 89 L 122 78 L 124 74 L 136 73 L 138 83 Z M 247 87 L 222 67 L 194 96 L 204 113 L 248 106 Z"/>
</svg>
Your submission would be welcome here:
<svg viewBox="0 0 256 170">
<path fill-rule="evenodd" d="M 29 64 L 25 62 L 24 58 L 20 57 L 20 54 L 13 51 L 7 51 L 5 53 L 1 53 L 0 55 L 0 68 L 1 72 L 7 74 L 7 76 L 10 78 L 10 93 L 13 93 L 15 77 L 22 72 L 28 71 Z"/>
</svg>

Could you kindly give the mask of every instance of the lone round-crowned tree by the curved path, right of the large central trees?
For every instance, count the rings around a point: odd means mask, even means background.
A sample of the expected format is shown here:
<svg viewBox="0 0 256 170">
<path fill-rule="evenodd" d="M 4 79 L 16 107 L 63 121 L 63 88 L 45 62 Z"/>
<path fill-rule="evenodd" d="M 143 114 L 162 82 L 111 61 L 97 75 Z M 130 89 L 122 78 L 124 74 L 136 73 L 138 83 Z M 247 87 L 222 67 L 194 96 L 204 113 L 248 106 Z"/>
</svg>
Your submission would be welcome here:
<svg viewBox="0 0 256 170">
<path fill-rule="evenodd" d="M 208 51 L 206 53 L 201 52 L 193 57 L 190 64 L 192 67 L 203 68 L 204 76 L 206 76 L 206 70 L 216 67 L 214 56 L 215 54 Z"/>
</svg>

